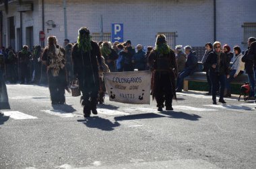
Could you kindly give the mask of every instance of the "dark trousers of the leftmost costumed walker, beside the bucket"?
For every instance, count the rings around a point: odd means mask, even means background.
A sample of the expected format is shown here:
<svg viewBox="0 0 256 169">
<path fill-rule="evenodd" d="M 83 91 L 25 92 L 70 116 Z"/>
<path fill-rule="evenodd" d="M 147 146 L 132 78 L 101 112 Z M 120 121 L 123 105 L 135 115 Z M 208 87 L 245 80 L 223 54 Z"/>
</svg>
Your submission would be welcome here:
<svg viewBox="0 0 256 169">
<path fill-rule="evenodd" d="M 65 87 L 67 86 L 65 70 L 61 69 L 56 77 L 49 70 L 48 78 L 51 101 L 54 103 L 65 103 Z"/>
</svg>

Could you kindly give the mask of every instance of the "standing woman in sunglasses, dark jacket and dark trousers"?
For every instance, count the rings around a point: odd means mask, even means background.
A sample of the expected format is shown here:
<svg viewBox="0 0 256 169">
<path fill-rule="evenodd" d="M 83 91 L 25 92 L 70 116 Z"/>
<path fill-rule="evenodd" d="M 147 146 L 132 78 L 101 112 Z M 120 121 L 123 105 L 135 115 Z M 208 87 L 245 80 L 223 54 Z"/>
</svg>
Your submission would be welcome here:
<svg viewBox="0 0 256 169">
<path fill-rule="evenodd" d="M 205 64 L 209 67 L 209 75 L 212 83 L 212 100 L 213 104 L 216 102 L 216 92 L 218 91 L 218 83 L 220 83 L 220 99 L 219 102 L 226 104 L 224 101 L 224 90 L 226 78 L 228 75 L 228 59 L 224 53 L 221 52 L 220 42 L 214 42 L 214 51 L 209 53 Z"/>
</svg>

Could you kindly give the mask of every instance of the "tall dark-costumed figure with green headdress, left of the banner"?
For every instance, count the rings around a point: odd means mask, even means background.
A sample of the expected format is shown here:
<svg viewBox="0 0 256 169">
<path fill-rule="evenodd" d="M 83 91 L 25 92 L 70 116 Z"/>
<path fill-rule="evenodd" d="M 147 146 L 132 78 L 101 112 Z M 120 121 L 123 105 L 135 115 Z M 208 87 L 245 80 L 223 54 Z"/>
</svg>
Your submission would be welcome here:
<svg viewBox="0 0 256 169">
<path fill-rule="evenodd" d="M 82 91 L 82 106 L 84 117 L 89 117 L 96 110 L 98 91 L 100 90 L 98 65 L 102 69 L 100 47 L 91 40 L 88 28 L 80 28 L 77 43 L 73 46 L 71 56 L 73 61 L 73 81 L 78 79 L 79 90 Z"/>
</svg>

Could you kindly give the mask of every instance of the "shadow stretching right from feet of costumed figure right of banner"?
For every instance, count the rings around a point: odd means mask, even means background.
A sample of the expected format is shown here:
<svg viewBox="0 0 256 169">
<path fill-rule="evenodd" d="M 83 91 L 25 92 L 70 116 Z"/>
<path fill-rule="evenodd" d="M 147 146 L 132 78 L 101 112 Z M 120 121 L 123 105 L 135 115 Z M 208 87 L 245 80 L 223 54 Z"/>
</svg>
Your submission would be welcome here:
<svg viewBox="0 0 256 169">
<path fill-rule="evenodd" d="M 198 116 L 197 114 L 187 114 L 185 112 L 163 111 L 160 113 L 168 115 L 172 119 L 185 119 L 189 121 L 199 121 L 199 119 L 201 118 L 201 116 Z"/>
</svg>

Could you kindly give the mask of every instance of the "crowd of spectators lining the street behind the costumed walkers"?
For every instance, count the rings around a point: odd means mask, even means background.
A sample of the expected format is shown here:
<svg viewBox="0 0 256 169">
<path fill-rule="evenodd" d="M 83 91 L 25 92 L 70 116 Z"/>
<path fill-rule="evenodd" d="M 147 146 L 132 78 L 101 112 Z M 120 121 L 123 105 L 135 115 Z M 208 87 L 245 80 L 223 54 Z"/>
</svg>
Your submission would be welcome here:
<svg viewBox="0 0 256 169">
<path fill-rule="evenodd" d="M 220 95 L 219 102 L 226 103 L 224 97 L 230 97 L 232 89 L 230 83 L 244 71 L 248 75 L 248 81 L 251 86 L 250 99 L 255 100 L 255 77 L 256 65 L 252 57 L 253 49 L 250 50 L 251 44 L 255 46 L 254 37 L 248 40 L 248 50 L 241 50 L 240 46 L 231 48 L 228 44 L 220 42 L 207 42 L 205 44 L 205 54 L 201 63 L 202 71 L 206 72 L 209 90 L 207 95 L 212 95 L 213 103 L 216 104 L 216 94 Z M 151 67 L 148 65 L 148 57 L 154 49 L 152 46 L 144 47 L 137 44 L 134 48 L 131 40 L 126 42 L 98 42 L 102 59 L 108 66 L 110 72 L 122 71 L 147 71 Z M 71 50 L 73 43 L 65 39 L 63 48 L 65 49 L 65 68 L 67 71 L 67 81 L 72 81 L 73 66 L 71 59 Z M 144 50 L 146 49 L 146 50 Z M 13 48 L 1 47 L 0 64 L 4 72 L 7 83 L 35 83 L 46 84 L 46 65 L 42 64 L 42 46 L 24 45 L 22 50 L 16 52 Z M 177 45 L 174 48 L 177 60 L 177 86 L 176 92 L 182 92 L 183 80 L 188 75 L 198 71 L 197 53 L 191 46 Z"/>
</svg>

